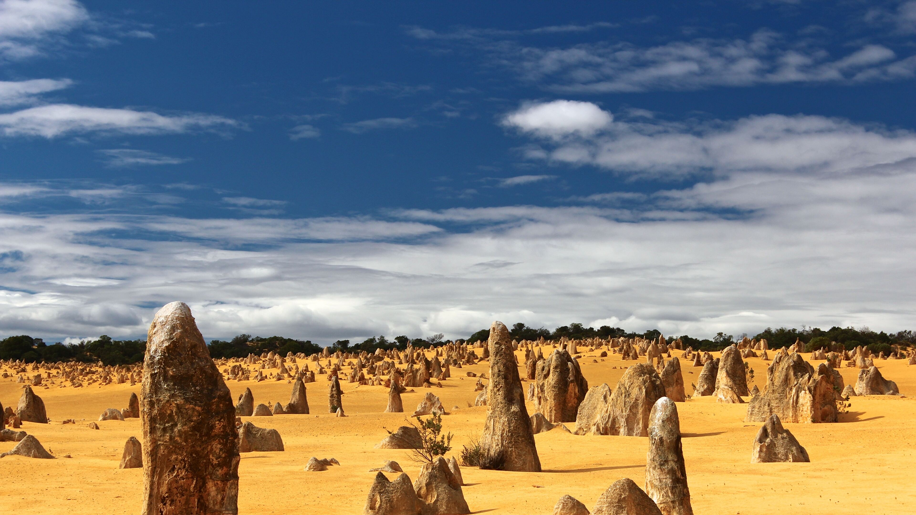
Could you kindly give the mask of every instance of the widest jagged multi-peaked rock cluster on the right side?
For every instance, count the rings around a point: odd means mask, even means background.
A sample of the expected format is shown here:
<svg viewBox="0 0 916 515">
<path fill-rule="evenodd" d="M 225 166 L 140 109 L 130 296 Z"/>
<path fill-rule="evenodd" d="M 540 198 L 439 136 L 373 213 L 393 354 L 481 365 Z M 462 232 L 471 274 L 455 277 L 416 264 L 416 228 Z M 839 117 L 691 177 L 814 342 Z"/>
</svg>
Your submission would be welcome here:
<svg viewBox="0 0 916 515">
<path fill-rule="evenodd" d="M 835 381 L 834 370 L 826 364 L 815 371 L 801 355 L 783 348 L 767 367 L 767 389 L 747 405 L 745 422 L 766 422 L 774 414 L 793 423 L 836 422 Z"/>
</svg>

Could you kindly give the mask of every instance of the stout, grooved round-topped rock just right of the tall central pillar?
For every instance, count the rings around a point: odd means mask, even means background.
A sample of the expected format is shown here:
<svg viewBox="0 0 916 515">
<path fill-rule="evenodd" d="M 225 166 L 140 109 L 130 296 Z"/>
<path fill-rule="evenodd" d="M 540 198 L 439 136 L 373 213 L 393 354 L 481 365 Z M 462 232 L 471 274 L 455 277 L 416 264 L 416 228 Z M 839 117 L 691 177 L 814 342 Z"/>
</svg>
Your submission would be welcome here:
<svg viewBox="0 0 916 515">
<path fill-rule="evenodd" d="M 538 362 L 535 380 L 535 410 L 549 422 L 575 422 L 579 404 L 588 391 L 579 362 L 565 349 L 556 349 Z"/>
</svg>

